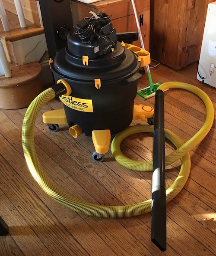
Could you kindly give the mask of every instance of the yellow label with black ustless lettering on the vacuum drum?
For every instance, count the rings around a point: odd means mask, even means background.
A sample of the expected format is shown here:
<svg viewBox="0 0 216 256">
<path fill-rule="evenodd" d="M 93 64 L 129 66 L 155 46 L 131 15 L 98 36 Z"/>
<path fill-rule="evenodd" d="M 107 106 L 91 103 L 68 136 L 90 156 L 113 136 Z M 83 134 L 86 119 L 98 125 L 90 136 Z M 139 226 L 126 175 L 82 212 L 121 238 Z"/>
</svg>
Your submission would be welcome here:
<svg viewBox="0 0 216 256">
<path fill-rule="evenodd" d="M 93 112 L 92 99 L 75 98 L 72 96 L 61 95 L 60 101 L 69 108 L 82 112 Z"/>
</svg>

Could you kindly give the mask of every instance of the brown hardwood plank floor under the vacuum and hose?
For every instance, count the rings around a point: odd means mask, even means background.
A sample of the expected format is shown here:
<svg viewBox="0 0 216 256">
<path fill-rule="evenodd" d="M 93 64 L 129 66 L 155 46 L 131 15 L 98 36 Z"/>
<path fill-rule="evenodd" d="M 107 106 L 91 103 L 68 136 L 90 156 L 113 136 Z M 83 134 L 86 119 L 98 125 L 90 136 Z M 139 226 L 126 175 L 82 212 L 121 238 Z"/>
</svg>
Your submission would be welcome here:
<svg viewBox="0 0 216 256">
<path fill-rule="evenodd" d="M 151 69 L 156 82 L 180 81 L 196 85 L 211 98 L 216 89 L 196 79 L 196 63 L 178 71 L 160 65 Z M 149 85 L 147 75 L 139 89 Z M 136 104 L 154 106 L 154 98 L 136 97 Z M 42 113 L 62 108 L 52 100 L 38 115 L 35 145 L 44 170 L 61 189 L 82 200 L 126 205 L 151 198 L 150 172 L 136 172 L 116 162 L 111 151 L 102 163 L 92 161 L 92 139 L 74 139 L 67 125 L 50 132 Z M 23 156 L 21 129 L 26 109 L 0 110 L 0 216 L 9 234 L 0 236 L 0 256 L 213 256 L 216 255 L 216 129 L 191 152 L 191 173 L 181 192 L 167 204 L 167 250 L 151 242 L 151 213 L 124 219 L 102 219 L 76 213 L 52 200 L 33 179 Z M 205 107 L 200 98 L 179 89 L 165 92 L 165 128 L 184 142 L 203 125 Z M 134 121 L 133 124 L 142 123 Z M 146 122 L 143 122 L 146 124 Z M 152 160 L 152 135 L 137 134 L 121 145 L 135 160 Z M 166 142 L 165 153 L 174 149 Z M 180 160 L 168 166 L 167 187 L 180 169 Z"/>
</svg>

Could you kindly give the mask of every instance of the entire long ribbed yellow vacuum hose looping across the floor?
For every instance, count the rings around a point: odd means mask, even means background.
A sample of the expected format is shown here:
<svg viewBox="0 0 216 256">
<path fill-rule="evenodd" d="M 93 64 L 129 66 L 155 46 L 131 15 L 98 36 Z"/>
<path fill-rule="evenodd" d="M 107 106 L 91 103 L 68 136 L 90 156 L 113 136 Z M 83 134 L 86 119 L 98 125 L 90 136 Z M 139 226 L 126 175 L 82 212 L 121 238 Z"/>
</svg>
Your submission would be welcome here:
<svg viewBox="0 0 216 256">
<path fill-rule="evenodd" d="M 172 164 L 173 162 L 181 158 L 181 169 L 178 177 L 176 178 L 174 183 L 166 190 L 166 200 L 168 202 L 181 191 L 187 181 L 191 168 L 191 160 L 188 152 L 198 143 L 200 143 L 200 141 L 210 131 L 214 119 L 214 109 L 210 98 L 202 90 L 198 89 L 193 85 L 179 82 L 168 82 L 162 84 L 159 87 L 159 89 L 162 90 L 165 90 L 167 88 L 182 88 L 194 92 L 203 100 L 206 106 L 206 121 L 203 127 L 186 143 L 183 143 L 183 141 L 181 141 L 181 139 L 171 131 L 165 130 L 165 137 L 172 141 L 172 143 L 175 144 L 175 146 L 177 147 L 177 150 L 175 152 L 169 154 L 166 157 L 166 165 Z M 47 89 L 46 91 L 38 95 L 38 97 L 33 100 L 29 108 L 27 109 L 22 126 L 22 145 L 25 155 L 25 161 L 29 167 L 30 172 L 35 178 L 35 181 L 37 181 L 40 187 L 50 197 L 52 197 L 58 203 L 63 204 L 65 207 L 68 207 L 79 213 L 84 213 L 96 217 L 130 217 L 151 211 L 151 199 L 145 202 L 127 206 L 98 205 L 79 200 L 65 193 L 50 180 L 48 175 L 41 167 L 38 156 L 36 154 L 34 141 L 34 126 L 36 117 L 42 106 L 54 97 L 55 93 L 52 89 Z M 130 129 L 135 130 L 131 131 Z M 121 151 L 118 148 L 118 145 L 121 144 L 122 139 L 135 132 L 153 132 L 153 129 L 154 128 L 152 125 L 139 125 L 127 128 L 125 131 L 121 132 L 120 135 L 118 134 L 111 144 L 111 149 L 117 161 L 121 162 L 121 158 L 124 158 L 124 160 L 126 158 L 124 155 L 121 154 Z M 122 162 L 124 162 L 124 160 Z M 131 159 L 127 159 L 124 163 L 124 166 L 139 171 L 150 171 L 152 170 L 152 161 L 140 163 Z"/>
</svg>

